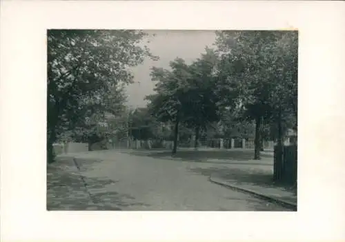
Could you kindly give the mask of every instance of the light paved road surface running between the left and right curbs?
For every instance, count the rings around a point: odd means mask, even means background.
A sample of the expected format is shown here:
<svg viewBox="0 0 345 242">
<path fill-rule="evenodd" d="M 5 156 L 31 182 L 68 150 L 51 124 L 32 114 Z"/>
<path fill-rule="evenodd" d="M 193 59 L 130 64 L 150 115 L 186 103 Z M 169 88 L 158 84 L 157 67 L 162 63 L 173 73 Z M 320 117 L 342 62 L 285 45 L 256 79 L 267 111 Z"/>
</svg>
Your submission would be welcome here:
<svg viewBox="0 0 345 242">
<path fill-rule="evenodd" d="M 208 181 L 210 172 L 221 169 L 221 164 L 153 159 L 114 151 L 75 155 L 88 192 L 103 208 L 287 210 Z"/>
</svg>

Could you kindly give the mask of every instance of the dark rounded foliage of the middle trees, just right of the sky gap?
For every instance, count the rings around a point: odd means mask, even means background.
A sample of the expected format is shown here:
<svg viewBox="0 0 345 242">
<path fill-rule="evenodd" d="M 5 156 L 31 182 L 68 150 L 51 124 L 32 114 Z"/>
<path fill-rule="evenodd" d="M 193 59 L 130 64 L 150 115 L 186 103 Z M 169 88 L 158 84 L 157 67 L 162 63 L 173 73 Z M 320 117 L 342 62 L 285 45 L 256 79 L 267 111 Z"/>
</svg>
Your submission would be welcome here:
<svg viewBox="0 0 345 242">
<path fill-rule="evenodd" d="M 219 121 L 219 99 L 213 77 L 216 63 L 217 55 L 206 48 L 206 53 L 191 65 L 177 58 L 170 63 L 171 70 L 152 68 L 152 81 L 157 81 L 157 93 L 148 97 L 152 114 L 159 121 L 175 122 L 177 127 L 181 122 L 188 129 L 195 128 L 198 138 L 201 129 L 206 130 L 209 123 Z"/>
</svg>

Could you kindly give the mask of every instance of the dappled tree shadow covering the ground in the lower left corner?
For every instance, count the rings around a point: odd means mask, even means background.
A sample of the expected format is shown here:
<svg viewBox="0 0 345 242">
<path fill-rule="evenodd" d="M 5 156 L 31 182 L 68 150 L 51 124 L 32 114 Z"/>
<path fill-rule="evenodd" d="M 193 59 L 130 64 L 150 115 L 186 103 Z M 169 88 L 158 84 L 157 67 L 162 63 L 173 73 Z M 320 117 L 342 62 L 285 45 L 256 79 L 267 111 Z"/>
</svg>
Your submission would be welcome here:
<svg viewBox="0 0 345 242">
<path fill-rule="evenodd" d="M 71 160 L 48 165 L 47 210 L 111 211 L 132 205 L 148 206 L 135 201 L 129 194 L 104 190 L 116 182 L 102 177 L 82 177 Z M 99 192 L 90 192 L 92 189 Z"/>
</svg>

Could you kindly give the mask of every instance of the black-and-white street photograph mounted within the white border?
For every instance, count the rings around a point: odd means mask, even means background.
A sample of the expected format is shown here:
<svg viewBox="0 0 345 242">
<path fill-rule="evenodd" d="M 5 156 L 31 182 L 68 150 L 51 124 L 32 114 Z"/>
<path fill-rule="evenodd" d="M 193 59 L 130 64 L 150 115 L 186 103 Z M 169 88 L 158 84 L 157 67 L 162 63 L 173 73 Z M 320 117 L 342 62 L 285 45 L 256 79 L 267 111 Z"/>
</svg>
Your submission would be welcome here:
<svg viewBox="0 0 345 242">
<path fill-rule="evenodd" d="M 298 31 L 47 30 L 47 210 L 297 211 Z"/>
</svg>

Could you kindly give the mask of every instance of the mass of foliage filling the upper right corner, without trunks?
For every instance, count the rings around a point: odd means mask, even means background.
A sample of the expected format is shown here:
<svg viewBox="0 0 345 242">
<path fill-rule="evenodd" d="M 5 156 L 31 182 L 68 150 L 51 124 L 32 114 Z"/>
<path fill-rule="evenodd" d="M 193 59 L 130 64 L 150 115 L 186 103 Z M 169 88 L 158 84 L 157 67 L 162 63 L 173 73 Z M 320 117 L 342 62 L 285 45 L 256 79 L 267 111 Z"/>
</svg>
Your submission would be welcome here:
<svg viewBox="0 0 345 242">
<path fill-rule="evenodd" d="M 221 74 L 231 77 L 225 81 L 237 95 L 230 97 L 241 99 L 247 117 L 273 117 L 278 106 L 297 110 L 297 39 L 294 31 L 217 32 L 220 56 L 228 59 Z"/>
</svg>

